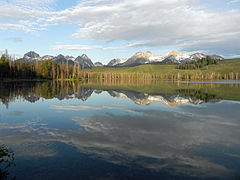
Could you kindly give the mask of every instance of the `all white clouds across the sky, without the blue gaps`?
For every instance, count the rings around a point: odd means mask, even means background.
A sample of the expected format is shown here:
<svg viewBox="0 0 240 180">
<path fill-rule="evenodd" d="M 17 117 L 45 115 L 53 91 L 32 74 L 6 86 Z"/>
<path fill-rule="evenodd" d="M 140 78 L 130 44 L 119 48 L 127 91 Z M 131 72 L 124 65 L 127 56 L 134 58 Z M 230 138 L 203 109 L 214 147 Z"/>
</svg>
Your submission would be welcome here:
<svg viewBox="0 0 240 180">
<path fill-rule="evenodd" d="M 61 11 L 49 8 L 54 0 L 9 2 L 0 4 L 1 29 L 31 32 L 51 25 L 77 24 L 79 29 L 73 33 L 74 38 L 105 42 L 124 40 L 146 47 L 173 46 L 185 51 L 240 54 L 240 47 L 236 46 L 240 40 L 240 11 L 213 12 L 198 7 L 197 0 L 85 0 Z M 16 22 L 6 23 L 6 19 Z M 53 48 L 106 49 L 98 45 Z"/>
</svg>

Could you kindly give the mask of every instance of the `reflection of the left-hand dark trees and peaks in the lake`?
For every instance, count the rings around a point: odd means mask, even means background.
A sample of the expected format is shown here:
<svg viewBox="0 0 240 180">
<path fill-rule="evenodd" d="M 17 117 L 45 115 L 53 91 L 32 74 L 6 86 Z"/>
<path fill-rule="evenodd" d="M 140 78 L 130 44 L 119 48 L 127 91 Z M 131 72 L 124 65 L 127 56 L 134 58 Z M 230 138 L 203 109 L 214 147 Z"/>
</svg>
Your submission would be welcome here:
<svg viewBox="0 0 240 180">
<path fill-rule="evenodd" d="M 0 104 L 8 108 L 10 102 L 19 97 L 29 102 L 36 102 L 41 97 L 45 99 L 75 98 L 86 100 L 93 92 L 84 87 L 85 81 L 0 81 Z M 1 179 L 1 178 L 0 178 Z"/>
</svg>

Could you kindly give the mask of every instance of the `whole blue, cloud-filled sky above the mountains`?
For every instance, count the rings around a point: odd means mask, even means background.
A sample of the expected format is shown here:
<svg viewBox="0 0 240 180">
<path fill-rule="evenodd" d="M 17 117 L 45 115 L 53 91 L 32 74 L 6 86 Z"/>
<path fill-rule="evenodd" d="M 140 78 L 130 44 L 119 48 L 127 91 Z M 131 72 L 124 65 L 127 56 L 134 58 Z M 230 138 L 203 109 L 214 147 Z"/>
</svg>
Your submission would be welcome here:
<svg viewBox="0 0 240 180">
<path fill-rule="evenodd" d="M 240 57 L 240 0 L 0 0 L 0 53 Z"/>
</svg>

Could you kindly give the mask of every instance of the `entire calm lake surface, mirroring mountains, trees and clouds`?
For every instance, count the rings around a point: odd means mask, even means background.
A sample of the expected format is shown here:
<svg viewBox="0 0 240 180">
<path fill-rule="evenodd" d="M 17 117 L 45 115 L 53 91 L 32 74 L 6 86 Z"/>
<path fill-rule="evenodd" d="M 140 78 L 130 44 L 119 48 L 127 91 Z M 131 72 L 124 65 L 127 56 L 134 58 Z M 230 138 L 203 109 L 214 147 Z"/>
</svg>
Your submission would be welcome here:
<svg viewBox="0 0 240 180">
<path fill-rule="evenodd" d="M 240 179 L 240 84 L 0 82 L 0 144 L 0 179 Z"/>
</svg>

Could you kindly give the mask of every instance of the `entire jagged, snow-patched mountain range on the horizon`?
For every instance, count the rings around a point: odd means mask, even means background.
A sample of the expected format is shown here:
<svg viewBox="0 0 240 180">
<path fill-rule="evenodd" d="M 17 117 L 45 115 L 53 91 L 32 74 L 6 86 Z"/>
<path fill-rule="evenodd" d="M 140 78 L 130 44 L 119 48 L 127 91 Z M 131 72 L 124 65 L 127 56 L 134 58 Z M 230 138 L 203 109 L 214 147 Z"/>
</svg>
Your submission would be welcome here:
<svg viewBox="0 0 240 180">
<path fill-rule="evenodd" d="M 203 53 L 194 53 L 189 55 L 189 54 L 178 52 L 176 50 L 173 50 L 163 56 L 157 56 L 147 51 L 146 53 L 138 52 L 128 59 L 120 59 L 120 58 L 113 59 L 105 66 L 121 67 L 121 66 L 136 66 L 141 64 L 151 64 L 151 63 L 183 64 L 190 61 L 197 61 L 207 56 L 216 60 L 224 59 L 219 55 L 206 55 Z M 22 59 L 28 62 L 53 60 L 56 63 L 65 63 L 65 64 L 68 63 L 71 65 L 73 65 L 74 63 L 78 63 L 86 68 L 104 66 L 101 62 L 96 62 L 95 64 L 93 64 L 92 60 L 86 54 L 82 54 L 77 58 L 73 56 L 63 56 L 61 54 L 58 56 L 45 55 L 43 57 L 40 57 L 39 54 L 35 53 L 34 51 L 30 51 L 24 54 Z"/>
</svg>

